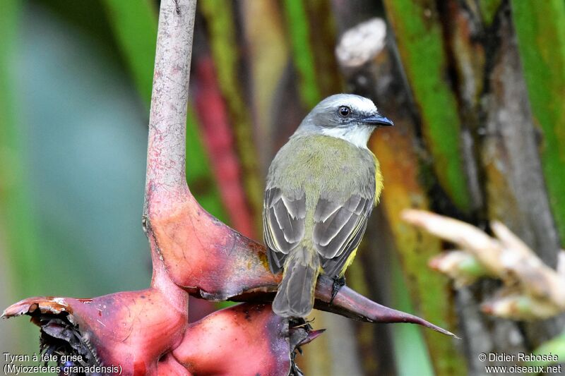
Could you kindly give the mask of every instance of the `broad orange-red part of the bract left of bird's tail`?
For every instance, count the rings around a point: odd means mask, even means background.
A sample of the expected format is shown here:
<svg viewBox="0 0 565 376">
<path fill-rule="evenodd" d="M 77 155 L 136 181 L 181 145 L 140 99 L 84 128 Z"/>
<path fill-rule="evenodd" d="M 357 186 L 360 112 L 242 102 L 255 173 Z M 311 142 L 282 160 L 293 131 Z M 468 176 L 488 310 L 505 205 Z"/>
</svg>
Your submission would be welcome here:
<svg viewBox="0 0 565 376">
<path fill-rule="evenodd" d="M 188 189 L 157 203 L 153 194 L 149 200 L 150 231 L 174 284 L 215 300 L 254 289 L 276 289 L 280 276 L 269 272 L 263 245 L 212 217 Z M 163 200 L 177 204 L 163 210 L 159 203 Z"/>
</svg>

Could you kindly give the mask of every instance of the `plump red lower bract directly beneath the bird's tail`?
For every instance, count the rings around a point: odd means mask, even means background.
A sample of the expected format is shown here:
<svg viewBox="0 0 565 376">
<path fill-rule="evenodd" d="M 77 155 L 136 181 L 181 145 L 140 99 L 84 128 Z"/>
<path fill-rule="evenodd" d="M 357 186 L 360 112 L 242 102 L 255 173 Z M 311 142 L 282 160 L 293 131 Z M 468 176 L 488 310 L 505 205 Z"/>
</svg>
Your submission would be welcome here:
<svg viewBox="0 0 565 376">
<path fill-rule="evenodd" d="M 173 356 L 195 375 L 288 375 L 289 348 L 308 341 L 307 335 L 273 315 L 270 305 L 244 303 L 191 325 Z"/>
</svg>

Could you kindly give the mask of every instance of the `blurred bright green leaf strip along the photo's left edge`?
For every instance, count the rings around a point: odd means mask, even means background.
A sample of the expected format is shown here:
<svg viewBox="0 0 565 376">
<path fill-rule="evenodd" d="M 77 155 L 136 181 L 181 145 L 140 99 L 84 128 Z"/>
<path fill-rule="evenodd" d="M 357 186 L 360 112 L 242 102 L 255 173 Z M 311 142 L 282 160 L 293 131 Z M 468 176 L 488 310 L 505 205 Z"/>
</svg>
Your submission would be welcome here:
<svg viewBox="0 0 565 376">
<path fill-rule="evenodd" d="M 18 0 L 5 0 L 0 8 L 0 207 L 11 250 L 8 262 L 19 274 L 18 281 L 26 281 L 16 289 L 29 295 L 38 284 L 34 276 L 40 268 L 41 254 L 32 222 L 26 127 L 20 119 L 20 92 L 16 83 L 21 7 Z"/>
</svg>

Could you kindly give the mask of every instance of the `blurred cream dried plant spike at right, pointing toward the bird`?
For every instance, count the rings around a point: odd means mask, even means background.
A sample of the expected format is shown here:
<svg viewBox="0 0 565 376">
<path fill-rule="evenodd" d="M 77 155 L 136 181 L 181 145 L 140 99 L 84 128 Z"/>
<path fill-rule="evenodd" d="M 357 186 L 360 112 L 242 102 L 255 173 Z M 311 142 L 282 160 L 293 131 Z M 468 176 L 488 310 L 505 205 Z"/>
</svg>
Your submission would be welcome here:
<svg viewBox="0 0 565 376">
<path fill-rule="evenodd" d="M 501 222 L 492 222 L 492 237 L 465 222 L 423 210 L 405 210 L 403 218 L 429 234 L 455 243 L 475 257 L 484 268 L 483 275 L 504 281 L 504 288 L 482 305 L 484 312 L 514 320 L 537 320 L 565 312 L 565 276 L 545 265 Z M 469 265 L 469 260 L 455 257 L 460 252 L 440 255 L 431 265 L 461 285 L 473 279 L 469 279 L 468 269 L 461 265 Z"/>
</svg>

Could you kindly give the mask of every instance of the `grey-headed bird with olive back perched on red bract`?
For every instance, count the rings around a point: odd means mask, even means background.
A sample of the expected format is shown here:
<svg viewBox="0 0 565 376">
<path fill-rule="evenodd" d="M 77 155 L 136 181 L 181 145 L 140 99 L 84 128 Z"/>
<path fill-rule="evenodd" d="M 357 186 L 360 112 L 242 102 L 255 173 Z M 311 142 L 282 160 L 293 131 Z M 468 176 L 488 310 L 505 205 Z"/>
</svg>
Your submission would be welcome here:
<svg viewBox="0 0 565 376">
<path fill-rule="evenodd" d="M 367 148 L 375 128 L 393 126 L 374 102 L 352 94 L 323 99 L 271 162 L 263 201 L 270 271 L 283 270 L 273 300 L 282 317 L 307 317 L 319 274 L 345 284 L 383 178 Z"/>
</svg>

